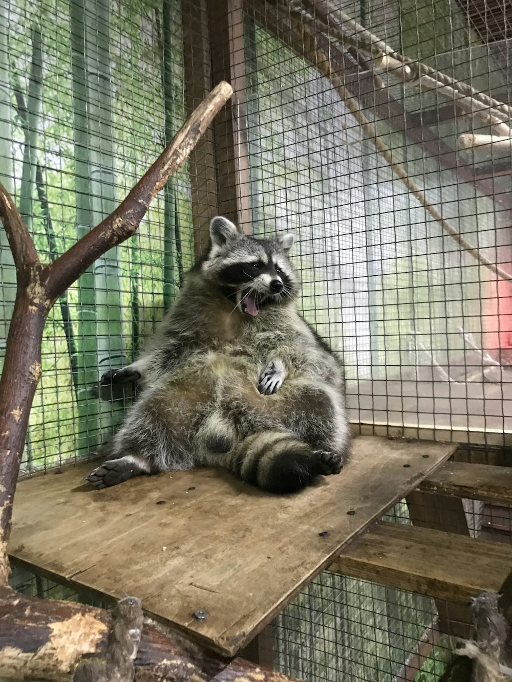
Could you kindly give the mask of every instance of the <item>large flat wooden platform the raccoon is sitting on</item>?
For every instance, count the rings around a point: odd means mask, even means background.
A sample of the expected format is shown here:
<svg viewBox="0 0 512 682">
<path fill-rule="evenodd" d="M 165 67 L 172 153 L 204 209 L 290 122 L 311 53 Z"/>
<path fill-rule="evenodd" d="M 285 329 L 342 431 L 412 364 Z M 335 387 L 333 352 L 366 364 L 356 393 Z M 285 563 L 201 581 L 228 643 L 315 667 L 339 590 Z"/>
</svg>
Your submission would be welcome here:
<svg viewBox="0 0 512 682">
<path fill-rule="evenodd" d="M 341 475 L 289 496 L 221 469 L 89 490 L 81 463 L 20 481 L 10 554 L 57 580 L 140 597 L 157 619 L 233 655 L 455 447 L 359 437 Z"/>
</svg>

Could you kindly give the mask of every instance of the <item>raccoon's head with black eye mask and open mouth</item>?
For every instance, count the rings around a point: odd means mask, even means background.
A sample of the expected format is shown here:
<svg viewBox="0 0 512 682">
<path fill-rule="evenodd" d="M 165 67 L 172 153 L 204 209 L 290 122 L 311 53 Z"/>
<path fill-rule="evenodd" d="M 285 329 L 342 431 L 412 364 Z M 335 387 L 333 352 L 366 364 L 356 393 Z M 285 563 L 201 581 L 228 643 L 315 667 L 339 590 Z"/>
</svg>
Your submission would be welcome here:
<svg viewBox="0 0 512 682">
<path fill-rule="evenodd" d="M 227 218 L 210 224 L 210 250 L 201 269 L 240 312 L 255 317 L 261 308 L 294 299 L 298 282 L 287 254 L 293 235 L 248 237 Z"/>
</svg>

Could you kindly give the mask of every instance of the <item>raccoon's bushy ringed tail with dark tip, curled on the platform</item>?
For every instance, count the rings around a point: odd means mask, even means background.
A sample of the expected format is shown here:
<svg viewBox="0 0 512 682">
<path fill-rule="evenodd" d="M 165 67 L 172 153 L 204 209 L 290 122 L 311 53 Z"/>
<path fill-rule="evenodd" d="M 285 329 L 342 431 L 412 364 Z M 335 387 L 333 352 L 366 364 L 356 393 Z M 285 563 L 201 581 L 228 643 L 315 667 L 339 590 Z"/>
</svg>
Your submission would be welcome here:
<svg viewBox="0 0 512 682">
<path fill-rule="evenodd" d="M 268 492 L 296 492 L 319 474 L 339 473 L 341 455 L 313 450 L 294 434 L 262 431 L 247 436 L 229 452 L 228 468 L 242 481 Z"/>
</svg>

